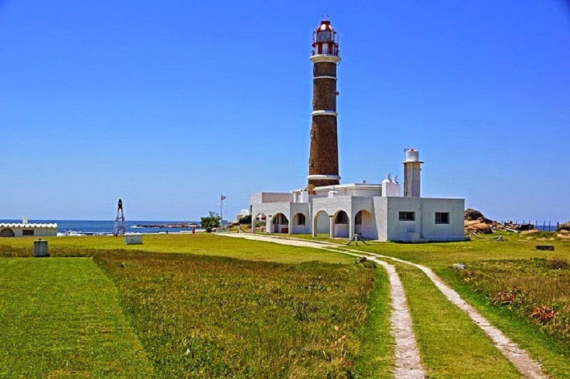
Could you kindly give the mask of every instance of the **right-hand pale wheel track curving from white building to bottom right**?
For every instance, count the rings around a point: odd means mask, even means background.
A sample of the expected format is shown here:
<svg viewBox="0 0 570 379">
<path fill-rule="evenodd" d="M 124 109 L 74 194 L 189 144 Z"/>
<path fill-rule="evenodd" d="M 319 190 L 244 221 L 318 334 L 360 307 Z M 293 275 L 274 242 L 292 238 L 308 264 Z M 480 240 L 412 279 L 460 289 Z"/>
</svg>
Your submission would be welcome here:
<svg viewBox="0 0 570 379">
<path fill-rule="evenodd" d="M 325 249 L 331 250 L 336 252 L 341 252 L 343 254 L 348 255 L 357 255 L 354 250 L 346 249 L 345 247 L 334 245 L 329 242 L 311 242 L 306 240 L 291 240 L 286 238 L 276 238 L 276 237 L 269 237 L 269 236 L 261 236 L 261 235 L 246 235 L 246 234 L 236 234 L 236 235 L 227 235 L 231 237 L 242 237 L 242 238 L 249 238 L 252 240 L 259 240 L 259 241 L 266 241 L 266 242 L 275 242 L 281 243 L 283 245 L 291 245 L 291 246 L 301 246 L 301 247 L 313 247 L 317 249 Z M 465 300 L 463 300 L 454 289 L 447 286 L 440 277 L 432 272 L 431 269 L 423 266 L 418 265 L 413 262 L 408 262 L 405 260 L 400 260 L 398 258 L 389 257 L 387 255 L 378 255 L 373 254 L 370 252 L 363 252 L 363 254 L 371 255 L 375 258 L 380 258 L 383 260 L 393 260 L 395 262 L 404 263 L 406 265 L 412 265 L 417 267 L 422 272 L 424 272 L 428 278 L 435 284 L 435 287 L 444 294 L 444 296 L 451 301 L 452 304 L 457 306 L 459 309 L 465 312 L 470 319 L 477 324 L 477 326 L 484 331 L 484 333 L 491 339 L 492 343 L 496 348 L 501 351 L 501 353 L 519 370 L 522 375 L 526 378 L 547 378 L 547 376 L 543 373 L 540 364 L 537 361 L 529 356 L 527 351 L 524 351 L 522 348 L 519 348 L 516 343 L 512 342 L 507 336 L 502 333 L 499 329 L 492 326 L 487 319 L 485 319 L 475 308 L 467 304 Z M 380 260 L 375 260 L 376 262 L 380 263 Z M 381 263 L 380 263 L 381 264 Z M 399 280 L 399 279 L 398 279 Z M 391 279 L 390 279 L 391 283 Z M 401 283 L 400 283 L 401 286 Z M 409 313 L 408 313 L 409 314 Z M 410 321 L 411 322 L 411 321 Z M 398 343 L 397 343 L 398 345 Z M 397 357 L 398 359 L 398 357 Z M 398 364 L 397 364 L 398 366 Z M 408 378 L 404 376 L 396 376 L 397 378 Z M 412 377 L 410 377 L 412 378 Z M 414 377 L 415 378 L 415 377 Z"/>
</svg>

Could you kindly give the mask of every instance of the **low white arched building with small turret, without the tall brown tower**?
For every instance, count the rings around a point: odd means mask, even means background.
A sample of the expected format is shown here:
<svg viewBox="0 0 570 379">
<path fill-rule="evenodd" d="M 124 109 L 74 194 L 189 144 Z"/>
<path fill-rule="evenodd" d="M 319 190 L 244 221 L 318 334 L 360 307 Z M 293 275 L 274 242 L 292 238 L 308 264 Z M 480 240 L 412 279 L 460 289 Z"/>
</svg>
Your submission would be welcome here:
<svg viewBox="0 0 570 379">
<path fill-rule="evenodd" d="M 405 186 L 388 176 L 381 184 L 351 183 L 249 197 L 252 228 L 265 220 L 267 233 L 317 234 L 397 242 L 464 240 L 465 201 L 420 197 L 419 153 L 406 151 Z M 413 170 L 410 173 L 408 171 Z M 413 181 L 413 183 L 410 183 Z M 414 193 L 418 196 L 411 196 Z"/>
</svg>

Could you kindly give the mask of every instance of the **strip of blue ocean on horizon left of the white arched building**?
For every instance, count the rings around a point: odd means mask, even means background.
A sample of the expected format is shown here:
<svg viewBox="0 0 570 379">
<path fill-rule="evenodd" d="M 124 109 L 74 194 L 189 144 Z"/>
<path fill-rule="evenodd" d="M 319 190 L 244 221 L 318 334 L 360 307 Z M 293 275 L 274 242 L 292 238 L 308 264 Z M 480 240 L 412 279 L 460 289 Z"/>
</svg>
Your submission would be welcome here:
<svg viewBox="0 0 570 379">
<path fill-rule="evenodd" d="M 0 223 L 21 223 L 22 220 L 0 220 Z M 28 220 L 29 223 L 56 223 L 58 233 L 73 233 L 83 235 L 105 235 L 113 233 L 115 228 L 114 220 Z M 128 233 L 176 233 L 190 232 L 190 228 L 137 228 L 135 225 L 157 225 L 157 224 L 177 224 L 194 223 L 200 225 L 199 221 L 138 221 L 125 220 L 125 227 Z M 199 229 L 199 228 L 198 228 Z"/>
</svg>

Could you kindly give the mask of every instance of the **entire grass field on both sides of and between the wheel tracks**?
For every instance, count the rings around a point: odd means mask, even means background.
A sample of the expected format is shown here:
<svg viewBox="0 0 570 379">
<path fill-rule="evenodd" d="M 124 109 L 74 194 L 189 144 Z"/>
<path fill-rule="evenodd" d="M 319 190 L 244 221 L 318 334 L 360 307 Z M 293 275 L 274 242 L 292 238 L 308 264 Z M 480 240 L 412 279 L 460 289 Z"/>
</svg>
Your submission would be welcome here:
<svg viewBox="0 0 570 379">
<path fill-rule="evenodd" d="M 344 248 L 431 267 L 546 373 L 569 377 L 570 242 L 504 238 Z M 391 377 L 383 269 L 206 234 L 144 239 L 126 246 L 115 237 L 50 237 L 51 259 L 11 258 L 29 257 L 33 239 L 0 240 L 0 377 Z M 537 243 L 556 250 L 537 251 Z M 457 262 L 467 270 L 452 269 Z M 396 267 L 430 377 L 519 376 L 423 273 Z M 518 302 L 494 301 L 503 292 Z M 543 314 L 531 316 L 539 306 Z"/>
</svg>

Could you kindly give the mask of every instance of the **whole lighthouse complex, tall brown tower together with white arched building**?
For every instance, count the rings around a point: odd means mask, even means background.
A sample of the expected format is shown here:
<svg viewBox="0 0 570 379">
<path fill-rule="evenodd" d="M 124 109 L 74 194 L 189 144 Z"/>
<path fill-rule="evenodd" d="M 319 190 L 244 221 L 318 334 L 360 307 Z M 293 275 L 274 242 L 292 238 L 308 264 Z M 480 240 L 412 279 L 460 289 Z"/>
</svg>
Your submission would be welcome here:
<svg viewBox="0 0 570 379">
<path fill-rule="evenodd" d="M 381 184 L 341 184 L 338 175 L 336 66 L 338 35 L 323 20 L 313 34 L 313 112 L 309 176 L 306 188 L 249 197 L 252 228 L 266 223 L 267 233 L 327 233 L 331 237 L 383 241 L 457 241 L 463 236 L 463 199 L 422 198 L 422 161 L 405 152 L 404 191 L 396 178 Z"/>
</svg>

